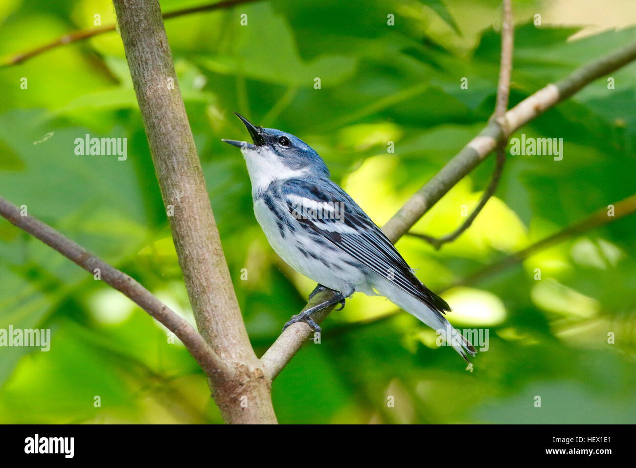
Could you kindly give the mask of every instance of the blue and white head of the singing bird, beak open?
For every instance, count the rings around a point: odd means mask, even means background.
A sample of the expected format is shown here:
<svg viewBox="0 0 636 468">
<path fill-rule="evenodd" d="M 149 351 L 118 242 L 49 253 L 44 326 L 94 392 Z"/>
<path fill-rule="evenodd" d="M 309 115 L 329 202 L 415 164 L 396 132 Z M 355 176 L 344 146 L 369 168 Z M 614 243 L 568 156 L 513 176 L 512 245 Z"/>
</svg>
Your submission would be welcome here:
<svg viewBox="0 0 636 468">
<path fill-rule="evenodd" d="M 257 127 L 239 113 L 235 114 L 247 128 L 252 143 L 225 138 L 223 141 L 240 148 L 254 189 L 264 188 L 280 179 L 329 177 L 322 158 L 300 138 L 280 130 Z"/>
</svg>

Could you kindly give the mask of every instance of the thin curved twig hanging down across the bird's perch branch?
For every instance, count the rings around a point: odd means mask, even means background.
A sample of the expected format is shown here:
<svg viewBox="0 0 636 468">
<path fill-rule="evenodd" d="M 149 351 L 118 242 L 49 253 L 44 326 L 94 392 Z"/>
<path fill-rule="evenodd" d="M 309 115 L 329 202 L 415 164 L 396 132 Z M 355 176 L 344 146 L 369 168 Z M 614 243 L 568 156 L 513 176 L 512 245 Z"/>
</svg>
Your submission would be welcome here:
<svg viewBox="0 0 636 468">
<path fill-rule="evenodd" d="M 446 243 L 452 242 L 459 238 L 462 233 L 471 227 L 473 221 L 481 213 L 481 210 L 490 197 L 497 191 L 497 185 L 501 179 L 501 173 L 504 170 L 504 164 L 506 164 L 506 145 L 508 145 L 508 131 L 506 130 L 506 109 L 508 109 L 508 97 L 510 95 L 510 75 L 513 69 L 513 45 L 515 42 L 515 27 L 513 26 L 513 11 L 511 0 L 503 0 L 501 10 L 501 64 L 499 66 L 499 83 L 497 84 L 497 101 L 495 103 L 495 111 L 492 115 L 494 122 L 501 127 L 501 131 L 506 135 L 504 141 L 501 141 L 497 145 L 497 160 L 495 162 L 495 169 L 490 178 L 488 187 L 481 195 L 481 199 L 477 206 L 473 209 L 473 212 L 466 218 L 457 229 L 453 230 L 445 236 L 435 238 L 428 234 L 416 234 L 414 232 L 408 232 L 409 236 L 415 236 L 420 239 L 424 239 L 429 244 L 434 246 L 437 250 Z"/>
</svg>

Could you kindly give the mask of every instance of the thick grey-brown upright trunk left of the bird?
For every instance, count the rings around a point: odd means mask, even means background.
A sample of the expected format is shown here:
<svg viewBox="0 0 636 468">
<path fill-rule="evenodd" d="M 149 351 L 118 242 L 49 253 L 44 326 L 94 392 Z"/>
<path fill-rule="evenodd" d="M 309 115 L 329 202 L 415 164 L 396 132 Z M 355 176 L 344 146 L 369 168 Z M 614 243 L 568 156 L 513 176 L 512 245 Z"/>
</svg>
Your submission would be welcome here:
<svg viewBox="0 0 636 468">
<path fill-rule="evenodd" d="M 270 381 L 252 350 L 172 63 L 157 0 L 114 0 L 128 67 L 197 326 L 230 368 L 209 375 L 228 423 L 275 423 Z"/>
</svg>

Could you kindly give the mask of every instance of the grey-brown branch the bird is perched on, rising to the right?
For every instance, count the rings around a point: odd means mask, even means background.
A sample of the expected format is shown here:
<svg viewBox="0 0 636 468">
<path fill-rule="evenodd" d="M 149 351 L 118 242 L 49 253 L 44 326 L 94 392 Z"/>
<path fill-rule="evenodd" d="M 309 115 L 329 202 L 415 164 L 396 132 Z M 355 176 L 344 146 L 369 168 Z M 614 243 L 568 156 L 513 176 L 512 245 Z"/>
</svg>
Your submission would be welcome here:
<svg viewBox="0 0 636 468">
<path fill-rule="evenodd" d="M 497 145 L 508 140 L 511 133 L 530 120 L 538 117 L 546 110 L 567 97 L 572 96 L 585 85 L 611 71 L 632 62 L 636 59 L 636 42 L 617 52 L 609 53 L 605 57 L 577 68 L 566 78 L 550 84 L 543 89 L 527 97 L 514 108 L 506 112 L 506 129 L 502 129 L 496 122 L 488 122 L 488 125 L 469 143 L 460 150 L 431 180 L 425 183 L 397 213 L 387 222 L 382 230 L 393 243 L 401 238 L 419 220 L 426 211 L 441 199 L 457 182 L 466 174 L 473 171 Z M 303 310 L 324 302 L 333 293 L 329 290 L 316 294 Z M 333 307 L 325 309 L 312 316 L 316 323 L 329 315 Z M 275 378 L 287 362 L 294 357 L 301 346 L 312 336 L 312 330 L 306 323 L 294 323 L 288 327 L 272 344 L 261 362 L 265 364 L 266 374 Z"/>
</svg>

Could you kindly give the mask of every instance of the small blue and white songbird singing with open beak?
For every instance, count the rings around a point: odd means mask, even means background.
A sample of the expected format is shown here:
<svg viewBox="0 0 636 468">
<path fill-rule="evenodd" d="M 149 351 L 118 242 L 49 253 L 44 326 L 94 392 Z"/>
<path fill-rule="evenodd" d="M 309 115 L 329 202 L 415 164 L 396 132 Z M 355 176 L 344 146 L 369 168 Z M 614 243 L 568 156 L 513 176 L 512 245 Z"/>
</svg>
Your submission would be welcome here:
<svg viewBox="0 0 636 468">
<path fill-rule="evenodd" d="M 354 292 L 382 295 L 444 337 L 469 362 L 473 345 L 455 330 L 450 307 L 413 273 L 384 232 L 345 190 L 331 180 L 324 160 L 300 138 L 243 122 L 252 142 L 222 139 L 244 155 L 252 185 L 254 215 L 273 250 L 289 266 L 318 283 L 310 299 L 329 288 L 332 297 L 294 315 L 321 328 L 312 315 Z"/>
</svg>

